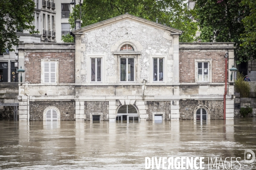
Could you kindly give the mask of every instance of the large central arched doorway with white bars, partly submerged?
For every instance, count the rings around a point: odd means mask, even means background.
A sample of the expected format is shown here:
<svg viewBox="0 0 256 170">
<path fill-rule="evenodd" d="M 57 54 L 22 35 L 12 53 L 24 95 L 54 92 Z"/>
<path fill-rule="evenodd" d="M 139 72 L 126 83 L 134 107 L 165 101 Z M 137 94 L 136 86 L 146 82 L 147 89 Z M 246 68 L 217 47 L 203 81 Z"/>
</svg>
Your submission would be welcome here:
<svg viewBox="0 0 256 170">
<path fill-rule="evenodd" d="M 139 116 L 136 108 L 133 105 L 122 105 L 116 116 L 118 123 L 139 123 Z"/>
</svg>

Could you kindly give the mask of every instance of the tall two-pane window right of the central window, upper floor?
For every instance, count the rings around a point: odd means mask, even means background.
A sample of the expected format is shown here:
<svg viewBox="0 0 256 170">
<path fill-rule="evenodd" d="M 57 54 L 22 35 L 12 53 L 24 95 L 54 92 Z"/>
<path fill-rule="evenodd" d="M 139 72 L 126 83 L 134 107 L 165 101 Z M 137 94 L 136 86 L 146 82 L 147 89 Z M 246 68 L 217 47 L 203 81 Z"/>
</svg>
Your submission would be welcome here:
<svg viewBox="0 0 256 170">
<path fill-rule="evenodd" d="M 163 58 L 153 58 L 153 81 L 163 82 Z"/>
</svg>

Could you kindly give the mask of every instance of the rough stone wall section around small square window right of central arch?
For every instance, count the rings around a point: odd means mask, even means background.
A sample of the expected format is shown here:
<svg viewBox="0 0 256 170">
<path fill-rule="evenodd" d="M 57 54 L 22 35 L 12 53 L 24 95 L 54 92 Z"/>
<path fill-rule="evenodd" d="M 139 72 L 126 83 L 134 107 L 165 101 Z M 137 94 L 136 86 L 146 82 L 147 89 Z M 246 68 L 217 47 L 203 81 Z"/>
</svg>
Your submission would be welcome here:
<svg viewBox="0 0 256 170">
<path fill-rule="evenodd" d="M 148 119 L 152 120 L 152 112 L 164 112 L 165 119 L 168 120 L 169 114 L 171 113 L 171 102 L 170 101 L 147 101 L 148 105 Z"/>
</svg>

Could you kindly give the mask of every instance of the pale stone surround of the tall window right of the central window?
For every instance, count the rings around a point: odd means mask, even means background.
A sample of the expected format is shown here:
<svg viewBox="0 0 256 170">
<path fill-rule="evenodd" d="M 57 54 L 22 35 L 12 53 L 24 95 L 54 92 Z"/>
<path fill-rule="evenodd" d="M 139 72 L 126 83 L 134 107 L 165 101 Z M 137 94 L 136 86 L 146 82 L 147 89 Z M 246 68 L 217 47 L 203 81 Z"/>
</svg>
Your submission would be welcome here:
<svg viewBox="0 0 256 170">
<path fill-rule="evenodd" d="M 154 81 L 154 58 L 157 58 L 157 81 Z M 163 81 L 159 81 L 159 59 L 163 58 Z M 151 55 L 150 56 L 151 66 L 150 66 L 150 80 L 152 83 L 164 83 L 166 82 L 167 75 L 167 56 L 166 55 Z"/>
</svg>

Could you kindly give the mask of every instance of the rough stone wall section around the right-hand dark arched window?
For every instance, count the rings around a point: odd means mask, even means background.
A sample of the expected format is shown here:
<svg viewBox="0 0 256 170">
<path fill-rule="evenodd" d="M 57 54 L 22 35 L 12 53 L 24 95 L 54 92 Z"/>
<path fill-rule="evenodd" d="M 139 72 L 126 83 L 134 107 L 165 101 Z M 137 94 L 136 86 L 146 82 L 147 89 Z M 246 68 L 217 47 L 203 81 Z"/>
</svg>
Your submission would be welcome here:
<svg viewBox="0 0 256 170">
<path fill-rule="evenodd" d="M 180 101 L 180 119 L 193 120 L 194 110 L 199 105 L 209 108 L 211 119 L 224 119 L 223 100 L 181 100 Z"/>
</svg>

